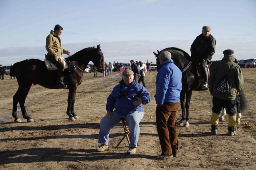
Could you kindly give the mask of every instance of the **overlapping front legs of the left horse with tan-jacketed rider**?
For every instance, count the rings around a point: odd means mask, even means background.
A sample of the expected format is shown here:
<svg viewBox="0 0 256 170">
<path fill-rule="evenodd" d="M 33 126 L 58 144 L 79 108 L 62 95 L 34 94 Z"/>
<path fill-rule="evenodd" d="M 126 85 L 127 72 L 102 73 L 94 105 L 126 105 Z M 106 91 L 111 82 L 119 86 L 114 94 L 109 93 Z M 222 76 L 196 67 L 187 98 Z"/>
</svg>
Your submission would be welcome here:
<svg viewBox="0 0 256 170">
<path fill-rule="evenodd" d="M 68 120 L 75 121 L 76 119 L 74 118 L 74 116 L 71 113 L 72 112 L 75 113 L 74 104 L 75 104 L 75 94 L 76 94 L 77 86 L 68 87 L 68 88 L 69 88 L 69 90 L 68 90 L 68 108 L 67 108 Z"/>
</svg>

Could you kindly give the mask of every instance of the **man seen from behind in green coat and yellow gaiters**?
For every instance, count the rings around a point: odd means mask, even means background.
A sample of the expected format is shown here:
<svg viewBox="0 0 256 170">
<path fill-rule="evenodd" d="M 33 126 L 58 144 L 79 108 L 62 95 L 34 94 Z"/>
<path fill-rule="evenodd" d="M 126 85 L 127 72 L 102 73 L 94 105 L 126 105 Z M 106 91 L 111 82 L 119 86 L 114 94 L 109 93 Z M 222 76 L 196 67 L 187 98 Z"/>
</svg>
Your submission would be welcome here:
<svg viewBox="0 0 256 170">
<path fill-rule="evenodd" d="M 236 63 L 234 51 L 223 51 L 224 57 L 217 61 L 209 76 L 209 90 L 212 95 L 212 134 L 217 135 L 219 114 L 223 106 L 227 107 L 228 135 L 236 134 L 236 95 L 244 84 L 241 68 Z"/>
</svg>

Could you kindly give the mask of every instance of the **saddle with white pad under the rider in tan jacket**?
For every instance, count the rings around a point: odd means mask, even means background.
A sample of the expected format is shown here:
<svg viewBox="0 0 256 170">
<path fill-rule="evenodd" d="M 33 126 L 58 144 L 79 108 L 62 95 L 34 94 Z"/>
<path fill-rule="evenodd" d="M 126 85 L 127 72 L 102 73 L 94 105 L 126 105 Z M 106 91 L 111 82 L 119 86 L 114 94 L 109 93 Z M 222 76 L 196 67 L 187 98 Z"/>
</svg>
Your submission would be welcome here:
<svg viewBox="0 0 256 170">
<path fill-rule="evenodd" d="M 45 59 L 44 59 L 44 64 L 47 68 L 47 70 L 59 70 L 58 67 L 56 67 L 51 61 L 47 60 L 47 55 L 44 55 L 45 56 Z M 74 73 L 76 71 L 76 67 L 69 61 L 69 57 L 66 58 L 66 60 L 61 56 L 60 58 L 61 62 L 63 63 L 64 65 L 64 74 L 66 72 L 68 73 Z"/>
</svg>

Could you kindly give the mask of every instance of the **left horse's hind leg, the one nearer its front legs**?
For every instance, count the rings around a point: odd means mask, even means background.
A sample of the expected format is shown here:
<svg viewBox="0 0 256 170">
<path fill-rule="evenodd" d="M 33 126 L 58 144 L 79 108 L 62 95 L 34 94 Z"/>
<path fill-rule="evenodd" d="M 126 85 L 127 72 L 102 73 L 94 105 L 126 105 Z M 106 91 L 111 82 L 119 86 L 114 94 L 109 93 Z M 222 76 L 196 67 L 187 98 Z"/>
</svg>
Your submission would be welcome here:
<svg viewBox="0 0 256 170">
<path fill-rule="evenodd" d="M 31 85 L 32 83 L 24 85 L 24 87 L 20 88 L 20 93 L 19 93 L 19 103 L 20 103 L 21 113 L 23 118 L 27 119 L 27 122 L 34 122 L 34 120 L 28 116 L 25 109 L 25 105 L 24 105 Z"/>
</svg>

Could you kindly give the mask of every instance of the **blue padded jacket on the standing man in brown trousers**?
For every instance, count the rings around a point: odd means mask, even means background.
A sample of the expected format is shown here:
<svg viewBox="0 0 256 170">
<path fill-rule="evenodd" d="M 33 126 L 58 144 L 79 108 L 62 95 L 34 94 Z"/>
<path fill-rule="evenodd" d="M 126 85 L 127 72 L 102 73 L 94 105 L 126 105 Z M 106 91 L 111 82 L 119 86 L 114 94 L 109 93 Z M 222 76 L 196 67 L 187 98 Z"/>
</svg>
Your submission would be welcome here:
<svg viewBox="0 0 256 170">
<path fill-rule="evenodd" d="M 162 106 L 164 102 L 179 103 L 182 89 L 182 72 L 172 59 L 162 63 L 157 68 L 156 76 L 156 104 Z"/>
</svg>

